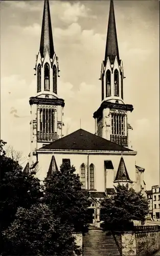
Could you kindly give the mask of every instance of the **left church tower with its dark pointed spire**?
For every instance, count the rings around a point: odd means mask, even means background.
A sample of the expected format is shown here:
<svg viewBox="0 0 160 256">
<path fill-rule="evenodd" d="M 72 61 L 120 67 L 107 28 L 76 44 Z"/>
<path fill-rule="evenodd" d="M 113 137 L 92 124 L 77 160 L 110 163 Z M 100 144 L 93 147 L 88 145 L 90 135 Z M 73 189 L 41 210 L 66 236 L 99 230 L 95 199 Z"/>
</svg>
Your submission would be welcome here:
<svg viewBox="0 0 160 256">
<path fill-rule="evenodd" d="M 56 56 L 49 1 L 44 0 L 40 47 L 35 64 L 35 97 L 31 105 L 30 167 L 37 161 L 36 150 L 62 137 L 64 100 L 58 97 L 59 63 Z"/>
</svg>

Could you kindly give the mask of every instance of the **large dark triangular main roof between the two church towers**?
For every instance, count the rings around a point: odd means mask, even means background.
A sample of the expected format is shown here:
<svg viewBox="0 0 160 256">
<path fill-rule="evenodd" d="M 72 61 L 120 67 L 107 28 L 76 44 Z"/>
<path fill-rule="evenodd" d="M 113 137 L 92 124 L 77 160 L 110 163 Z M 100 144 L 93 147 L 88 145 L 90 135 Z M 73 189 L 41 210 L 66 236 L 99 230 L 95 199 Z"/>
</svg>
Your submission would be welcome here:
<svg viewBox="0 0 160 256">
<path fill-rule="evenodd" d="M 120 146 L 97 135 L 79 129 L 61 139 L 41 147 L 52 150 L 95 150 L 95 151 L 129 151 L 129 148 Z"/>
</svg>

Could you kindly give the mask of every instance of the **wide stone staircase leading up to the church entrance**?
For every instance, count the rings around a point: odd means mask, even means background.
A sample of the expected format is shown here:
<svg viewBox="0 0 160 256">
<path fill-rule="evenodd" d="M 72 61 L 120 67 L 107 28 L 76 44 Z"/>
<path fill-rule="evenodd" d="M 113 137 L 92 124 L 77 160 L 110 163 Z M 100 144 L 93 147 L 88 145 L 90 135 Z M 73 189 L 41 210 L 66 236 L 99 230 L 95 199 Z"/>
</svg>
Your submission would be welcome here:
<svg viewBox="0 0 160 256">
<path fill-rule="evenodd" d="M 112 234 L 90 227 L 83 234 L 83 256 L 121 256 Z"/>
</svg>

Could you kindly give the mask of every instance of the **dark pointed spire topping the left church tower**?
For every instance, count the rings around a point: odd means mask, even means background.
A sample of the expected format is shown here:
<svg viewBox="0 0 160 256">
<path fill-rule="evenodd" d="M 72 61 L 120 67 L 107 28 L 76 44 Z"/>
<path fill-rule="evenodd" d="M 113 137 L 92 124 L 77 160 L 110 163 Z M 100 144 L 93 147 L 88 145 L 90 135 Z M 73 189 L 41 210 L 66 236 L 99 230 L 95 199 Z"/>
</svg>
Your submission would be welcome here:
<svg viewBox="0 0 160 256">
<path fill-rule="evenodd" d="M 53 35 L 52 35 L 49 0 L 44 0 L 42 30 L 41 30 L 39 50 L 42 58 L 44 57 L 46 50 L 48 50 L 50 58 L 53 58 L 54 46 L 53 46 Z"/>
</svg>

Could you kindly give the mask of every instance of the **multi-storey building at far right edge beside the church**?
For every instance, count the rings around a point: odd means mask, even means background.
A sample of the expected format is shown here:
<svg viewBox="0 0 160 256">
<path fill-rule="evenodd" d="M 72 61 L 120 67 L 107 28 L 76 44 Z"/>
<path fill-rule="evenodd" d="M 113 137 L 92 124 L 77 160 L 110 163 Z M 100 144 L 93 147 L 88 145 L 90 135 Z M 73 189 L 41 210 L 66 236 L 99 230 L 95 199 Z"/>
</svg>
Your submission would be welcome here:
<svg viewBox="0 0 160 256">
<path fill-rule="evenodd" d="M 152 186 L 151 190 L 147 190 L 147 198 L 149 202 L 149 218 L 160 220 L 160 187 Z"/>
</svg>

